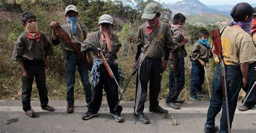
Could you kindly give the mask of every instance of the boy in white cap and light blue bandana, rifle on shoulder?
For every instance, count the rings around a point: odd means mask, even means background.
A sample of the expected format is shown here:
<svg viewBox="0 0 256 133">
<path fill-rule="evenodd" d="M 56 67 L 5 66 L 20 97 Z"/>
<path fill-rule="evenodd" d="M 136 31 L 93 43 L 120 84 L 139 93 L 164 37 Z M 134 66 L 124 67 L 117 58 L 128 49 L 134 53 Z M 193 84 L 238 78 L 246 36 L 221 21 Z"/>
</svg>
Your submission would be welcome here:
<svg viewBox="0 0 256 133">
<path fill-rule="evenodd" d="M 78 47 L 80 51 L 80 44 L 86 39 L 86 35 L 88 33 L 88 29 L 84 25 L 80 25 L 77 23 L 78 20 L 78 10 L 74 5 L 68 5 L 65 9 L 65 17 L 68 24 L 62 25 L 61 27 L 64 29 L 65 33 L 68 34 L 71 41 L 76 43 L 76 47 Z M 58 25 L 58 22 L 53 21 L 50 24 L 52 27 Z M 85 63 L 82 61 L 82 58 L 79 56 L 79 53 L 72 47 L 69 42 L 62 38 L 62 36 L 56 34 L 54 30 L 52 30 L 52 44 L 57 46 L 59 43 L 62 43 L 62 47 L 66 53 L 66 85 L 67 85 L 67 94 L 66 101 L 68 105 L 66 107 L 67 113 L 74 112 L 74 85 L 75 85 L 75 73 L 76 67 L 78 67 L 79 75 L 81 81 L 83 83 L 83 89 L 85 94 L 85 104 L 89 104 L 91 102 L 91 84 L 89 83 L 88 76 L 88 68 Z M 91 59 L 92 62 L 92 59 Z"/>
</svg>

